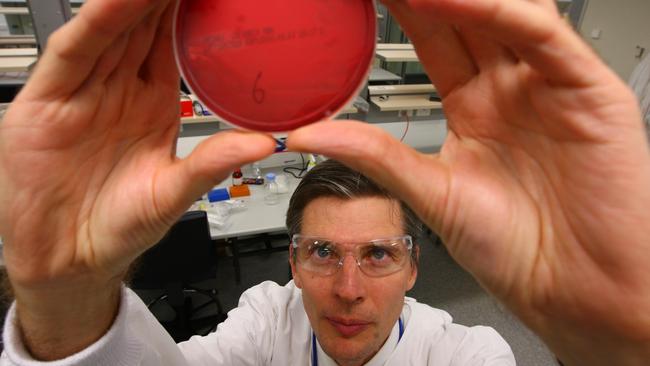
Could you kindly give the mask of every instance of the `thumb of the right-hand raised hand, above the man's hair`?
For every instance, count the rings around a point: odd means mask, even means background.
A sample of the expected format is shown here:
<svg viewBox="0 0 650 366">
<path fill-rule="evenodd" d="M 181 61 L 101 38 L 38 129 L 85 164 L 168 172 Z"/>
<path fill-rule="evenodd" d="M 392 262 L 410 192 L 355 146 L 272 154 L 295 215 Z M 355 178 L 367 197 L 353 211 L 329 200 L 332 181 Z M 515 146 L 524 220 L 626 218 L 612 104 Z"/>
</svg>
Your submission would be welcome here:
<svg viewBox="0 0 650 366">
<path fill-rule="evenodd" d="M 418 153 L 385 131 L 353 121 L 321 122 L 289 134 L 292 151 L 341 161 L 404 200 L 432 229 L 442 227 L 449 169 L 437 157 Z"/>
</svg>

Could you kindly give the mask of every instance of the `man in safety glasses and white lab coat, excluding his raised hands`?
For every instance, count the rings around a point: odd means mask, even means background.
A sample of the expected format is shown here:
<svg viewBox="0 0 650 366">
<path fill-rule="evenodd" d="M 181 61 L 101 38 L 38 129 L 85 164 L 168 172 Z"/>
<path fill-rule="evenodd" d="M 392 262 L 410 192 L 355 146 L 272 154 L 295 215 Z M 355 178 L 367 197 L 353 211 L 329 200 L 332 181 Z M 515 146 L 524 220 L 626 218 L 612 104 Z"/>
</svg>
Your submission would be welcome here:
<svg viewBox="0 0 650 366">
<path fill-rule="evenodd" d="M 417 219 L 366 177 L 333 160 L 316 166 L 292 196 L 287 227 L 295 283 L 249 289 L 215 333 L 177 347 L 125 289 L 106 336 L 59 364 L 515 364 L 493 329 L 452 324 L 447 313 L 405 300 L 417 277 Z M 33 362 L 14 318 L 7 356 Z"/>
</svg>

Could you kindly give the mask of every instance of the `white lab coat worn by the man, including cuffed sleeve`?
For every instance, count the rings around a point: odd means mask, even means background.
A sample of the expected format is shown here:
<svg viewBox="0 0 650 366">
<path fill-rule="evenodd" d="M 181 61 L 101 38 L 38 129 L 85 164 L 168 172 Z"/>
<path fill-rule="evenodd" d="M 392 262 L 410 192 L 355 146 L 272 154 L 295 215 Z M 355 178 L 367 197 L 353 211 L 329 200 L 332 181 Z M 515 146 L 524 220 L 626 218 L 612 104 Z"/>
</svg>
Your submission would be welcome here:
<svg viewBox="0 0 650 366">
<path fill-rule="evenodd" d="M 176 345 L 140 298 L 124 289 L 119 314 L 95 344 L 64 360 L 42 363 L 25 352 L 15 308 L 7 315 L 0 366 L 309 365 L 311 327 L 293 282 L 247 290 L 215 333 Z M 489 327 L 453 324 L 449 314 L 406 298 L 404 334 L 385 365 L 515 365 L 508 344 Z M 389 346 L 386 342 L 385 347 Z M 320 346 L 317 346 L 320 348 Z M 326 360 L 324 360 L 326 361 Z M 319 366 L 325 365 L 321 362 Z"/>
</svg>

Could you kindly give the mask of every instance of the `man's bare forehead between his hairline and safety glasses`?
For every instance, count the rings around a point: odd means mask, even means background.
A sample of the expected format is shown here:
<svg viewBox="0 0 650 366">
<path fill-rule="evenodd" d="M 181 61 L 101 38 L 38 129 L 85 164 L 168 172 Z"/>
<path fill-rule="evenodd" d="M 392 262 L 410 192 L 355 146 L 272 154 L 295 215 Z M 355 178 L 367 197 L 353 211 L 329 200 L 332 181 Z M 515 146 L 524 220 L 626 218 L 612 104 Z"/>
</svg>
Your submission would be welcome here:
<svg viewBox="0 0 650 366">
<path fill-rule="evenodd" d="M 301 234 L 358 242 L 404 234 L 401 209 L 384 197 L 319 197 L 303 211 Z"/>
</svg>

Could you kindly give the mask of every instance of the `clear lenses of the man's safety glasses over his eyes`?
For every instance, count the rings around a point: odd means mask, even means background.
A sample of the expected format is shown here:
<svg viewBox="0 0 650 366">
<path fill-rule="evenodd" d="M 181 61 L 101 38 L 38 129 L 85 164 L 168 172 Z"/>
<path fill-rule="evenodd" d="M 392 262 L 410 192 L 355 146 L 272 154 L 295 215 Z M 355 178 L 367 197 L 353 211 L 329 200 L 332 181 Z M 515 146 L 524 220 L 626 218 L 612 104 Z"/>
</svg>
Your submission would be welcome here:
<svg viewBox="0 0 650 366">
<path fill-rule="evenodd" d="M 410 236 L 403 236 L 372 240 L 344 250 L 342 245 L 327 239 L 295 235 L 292 245 L 298 263 L 308 271 L 323 276 L 334 274 L 351 252 L 363 273 L 382 277 L 404 268 L 413 244 Z"/>
</svg>

